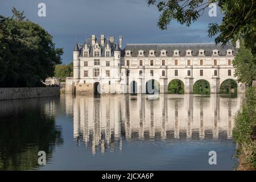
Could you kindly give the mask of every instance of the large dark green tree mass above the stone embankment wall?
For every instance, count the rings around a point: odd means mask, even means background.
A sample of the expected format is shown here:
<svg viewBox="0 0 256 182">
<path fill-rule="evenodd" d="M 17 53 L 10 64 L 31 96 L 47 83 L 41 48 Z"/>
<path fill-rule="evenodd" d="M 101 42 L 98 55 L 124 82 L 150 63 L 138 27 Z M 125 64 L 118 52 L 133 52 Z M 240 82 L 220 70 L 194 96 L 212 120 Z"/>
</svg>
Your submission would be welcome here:
<svg viewBox="0 0 256 182">
<path fill-rule="evenodd" d="M 61 63 L 63 49 L 52 36 L 13 9 L 14 16 L 0 15 L 0 87 L 42 86 Z"/>
</svg>

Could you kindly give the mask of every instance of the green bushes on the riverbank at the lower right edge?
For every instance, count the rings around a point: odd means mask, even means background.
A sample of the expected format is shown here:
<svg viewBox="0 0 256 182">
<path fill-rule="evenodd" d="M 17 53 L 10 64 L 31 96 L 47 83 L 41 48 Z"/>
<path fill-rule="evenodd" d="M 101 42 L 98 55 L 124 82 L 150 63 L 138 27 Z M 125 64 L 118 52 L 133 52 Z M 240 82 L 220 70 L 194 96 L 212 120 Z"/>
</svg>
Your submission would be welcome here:
<svg viewBox="0 0 256 182">
<path fill-rule="evenodd" d="M 238 143 L 238 151 L 245 154 L 247 162 L 256 168 L 256 143 L 251 139 L 256 121 L 256 93 L 254 88 L 246 89 L 246 102 L 236 114 L 233 137 Z"/>
</svg>

